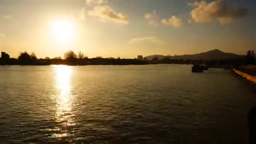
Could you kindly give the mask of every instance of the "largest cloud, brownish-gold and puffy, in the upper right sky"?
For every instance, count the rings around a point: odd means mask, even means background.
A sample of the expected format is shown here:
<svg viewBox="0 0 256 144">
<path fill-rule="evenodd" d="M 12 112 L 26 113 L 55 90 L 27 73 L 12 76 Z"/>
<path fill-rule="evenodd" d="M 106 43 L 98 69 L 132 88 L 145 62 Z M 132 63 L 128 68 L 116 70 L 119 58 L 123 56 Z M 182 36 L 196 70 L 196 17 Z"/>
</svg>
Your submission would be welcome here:
<svg viewBox="0 0 256 144">
<path fill-rule="evenodd" d="M 235 8 L 224 0 L 216 0 L 211 3 L 206 1 L 189 3 L 194 9 L 190 12 L 196 23 L 209 23 L 219 21 L 220 24 L 230 24 L 247 14 L 246 8 Z"/>
</svg>

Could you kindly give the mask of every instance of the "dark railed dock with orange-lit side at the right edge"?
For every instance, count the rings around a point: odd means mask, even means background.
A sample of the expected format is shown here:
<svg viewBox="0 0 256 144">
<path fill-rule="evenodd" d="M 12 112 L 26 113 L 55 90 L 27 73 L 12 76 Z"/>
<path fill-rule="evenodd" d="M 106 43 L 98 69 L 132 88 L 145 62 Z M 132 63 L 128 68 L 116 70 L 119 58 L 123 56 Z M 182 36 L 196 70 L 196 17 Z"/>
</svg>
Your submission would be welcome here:
<svg viewBox="0 0 256 144">
<path fill-rule="evenodd" d="M 233 70 L 238 75 L 245 77 L 246 79 L 256 83 L 256 65 L 248 65 L 248 66 L 242 65 Z"/>
</svg>

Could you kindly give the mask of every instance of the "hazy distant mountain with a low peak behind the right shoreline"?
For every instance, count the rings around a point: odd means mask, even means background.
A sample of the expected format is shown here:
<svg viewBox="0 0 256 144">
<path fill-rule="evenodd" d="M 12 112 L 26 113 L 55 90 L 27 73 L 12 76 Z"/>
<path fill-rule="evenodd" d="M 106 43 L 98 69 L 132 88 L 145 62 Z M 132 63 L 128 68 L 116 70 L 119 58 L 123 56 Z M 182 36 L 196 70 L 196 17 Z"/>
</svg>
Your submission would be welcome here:
<svg viewBox="0 0 256 144">
<path fill-rule="evenodd" d="M 147 56 L 147 59 L 151 60 L 154 57 L 158 57 L 158 59 L 163 59 L 165 56 L 163 55 L 152 55 Z M 213 59 L 237 59 L 242 57 L 243 55 L 237 55 L 235 53 L 224 53 L 218 49 L 207 51 L 205 53 L 197 53 L 197 54 L 185 54 L 180 56 L 167 56 L 170 59 L 191 59 L 191 60 L 213 60 Z"/>
</svg>

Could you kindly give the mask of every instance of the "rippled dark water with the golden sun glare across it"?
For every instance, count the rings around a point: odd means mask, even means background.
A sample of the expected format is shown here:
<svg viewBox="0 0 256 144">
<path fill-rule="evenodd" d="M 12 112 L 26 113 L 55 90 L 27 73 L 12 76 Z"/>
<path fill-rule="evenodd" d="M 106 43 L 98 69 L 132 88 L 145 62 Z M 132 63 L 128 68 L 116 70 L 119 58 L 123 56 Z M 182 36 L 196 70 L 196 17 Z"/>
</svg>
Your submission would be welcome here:
<svg viewBox="0 0 256 144">
<path fill-rule="evenodd" d="M 255 89 L 190 65 L 0 67 L 0 143 L 245 144 Z"/>
</svg>

